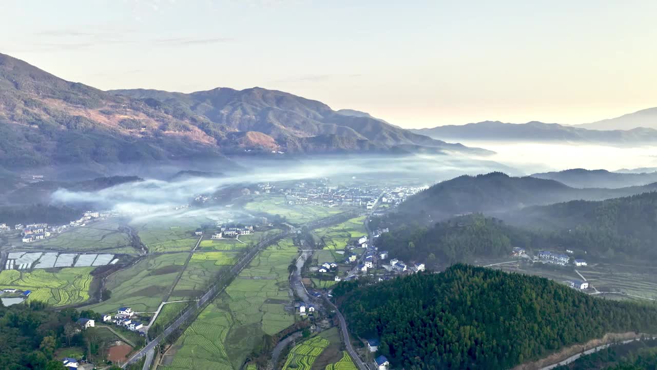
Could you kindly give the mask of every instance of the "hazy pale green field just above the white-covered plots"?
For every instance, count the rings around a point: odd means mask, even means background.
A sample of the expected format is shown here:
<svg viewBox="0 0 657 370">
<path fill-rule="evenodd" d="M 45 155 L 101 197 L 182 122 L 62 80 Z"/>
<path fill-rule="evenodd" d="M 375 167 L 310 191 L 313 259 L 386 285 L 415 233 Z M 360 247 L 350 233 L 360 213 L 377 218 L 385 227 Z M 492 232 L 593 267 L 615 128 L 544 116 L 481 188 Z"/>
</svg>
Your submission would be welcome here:
<svg viewBox="0 0 657 370">
<path fill-rule="evenodd" d="M 107 251 L 111 253 L 132 253 L 128 234 L 118 230 L 119 224 L 113 220 L 93 222 L 87 226 L 69 228 L 44 240 L 30 243 L 30 246 L 52 248 L 66 251 Z"/>
</svg>

